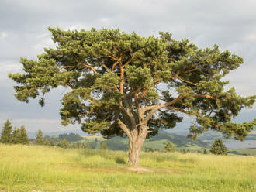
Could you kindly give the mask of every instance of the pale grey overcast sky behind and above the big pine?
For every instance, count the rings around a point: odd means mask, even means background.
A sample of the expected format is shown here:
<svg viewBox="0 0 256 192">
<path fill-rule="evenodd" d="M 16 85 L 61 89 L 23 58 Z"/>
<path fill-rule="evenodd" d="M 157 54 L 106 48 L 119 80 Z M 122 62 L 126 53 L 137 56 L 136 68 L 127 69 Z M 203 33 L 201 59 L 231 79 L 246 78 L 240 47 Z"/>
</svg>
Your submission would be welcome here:
<svg viewBox="0 0 256 192">
<path fill-rule="evenodd" d="M 202 48 L 217 44 L 244 58 L 244 64 L 225 78 L 230 87 L 243 96 L 256 94 L 255 10 L 255 0 L 0 0 L 0 126 L 10 119 L 29 132 L 67 129 L 59 120 L 64 90 L 47 94 L 41 108 L 37 101 L 16 101 L 14 84 L 7 77 L 21 71 L 19 57 L 36 59 L 43 47 L 53 46 L 48 26 L 119 28 L 142 36 L 169 31 L 175 39 L 190 39 Z M 256 117 L 255 105 L 247 113 Z"/>
</svg>

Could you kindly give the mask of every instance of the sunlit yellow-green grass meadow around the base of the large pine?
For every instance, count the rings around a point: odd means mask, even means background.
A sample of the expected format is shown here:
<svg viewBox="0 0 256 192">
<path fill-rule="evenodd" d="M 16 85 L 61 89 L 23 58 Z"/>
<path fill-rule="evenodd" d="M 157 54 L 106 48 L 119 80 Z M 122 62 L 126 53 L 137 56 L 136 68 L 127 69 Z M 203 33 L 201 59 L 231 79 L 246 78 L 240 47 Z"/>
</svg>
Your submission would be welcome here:
<svg viewBox="0 0 256 192">
<path fill-rule="evenodd" d="M 256 191 L 255 156 L 126 153 L 0 145 L 0 191 Z"/>
</svg>

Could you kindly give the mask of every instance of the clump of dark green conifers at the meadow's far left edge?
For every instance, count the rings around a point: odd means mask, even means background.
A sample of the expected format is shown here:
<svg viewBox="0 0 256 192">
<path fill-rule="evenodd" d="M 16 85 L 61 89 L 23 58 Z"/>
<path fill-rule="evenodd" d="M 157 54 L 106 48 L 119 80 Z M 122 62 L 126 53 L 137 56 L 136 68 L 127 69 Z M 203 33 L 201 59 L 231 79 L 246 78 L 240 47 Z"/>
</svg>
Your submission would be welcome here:
<svg viewBox="0 0 256 192">
<path fill-rule="evenodd" d="M 2 143 L 13 143 L 13 144 L 29 144 L 29 137 L 26 133 L 25 126 L 22 125 L 20 128 L 14 128 L 12 131 L 12 125 L 7 120 L 2 129 L 1 135 Z"/>
</svg>

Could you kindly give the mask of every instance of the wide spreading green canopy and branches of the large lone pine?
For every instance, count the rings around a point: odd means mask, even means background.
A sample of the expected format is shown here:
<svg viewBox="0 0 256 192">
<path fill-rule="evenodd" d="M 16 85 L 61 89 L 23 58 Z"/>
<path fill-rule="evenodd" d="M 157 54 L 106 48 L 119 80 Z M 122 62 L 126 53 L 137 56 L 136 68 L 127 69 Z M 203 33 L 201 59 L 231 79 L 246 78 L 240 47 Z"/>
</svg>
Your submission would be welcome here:
<svg viewBox="0 0 256 192">
<path fill-rule="evenodd" d="M 192 139 L 213 129 L 243 140 L 256 125 L 256 120 L 231 122 L 256 97 L 225 89 L 229 82 L 222 77 L 243 63 L 227 50 L 199 49 L 170 33 L 49 30 L 56 47 L 45 48 L 38 60 L 21 58 L 24 73 L 9 77 L 18 84 L 19 101 L 40 97 L 42 106 L 47 92 L 69 87 L 62 98 L 62 125 L 78 122 L 88 133 L 127 135 L 137 151 L 146 136 L 182 122 L 182 114 L 195 117 Z"/>
</svg>

